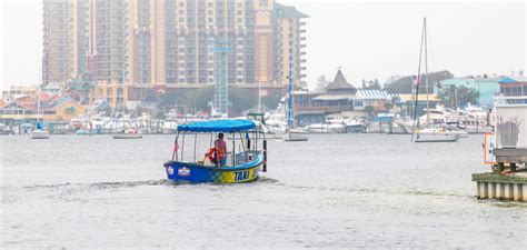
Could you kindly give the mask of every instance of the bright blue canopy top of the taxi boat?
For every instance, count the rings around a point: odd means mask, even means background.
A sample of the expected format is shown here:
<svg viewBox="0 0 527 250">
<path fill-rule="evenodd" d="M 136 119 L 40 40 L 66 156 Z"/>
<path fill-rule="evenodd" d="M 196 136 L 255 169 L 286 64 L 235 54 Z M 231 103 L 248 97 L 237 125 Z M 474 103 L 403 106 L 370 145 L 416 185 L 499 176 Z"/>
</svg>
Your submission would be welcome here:
<svg viewBox="0 0 527 250">
<path fill-rule="evenodd" d="M 256 124 L 249 120 L 215 120 L 199 121 L 190 124 L 179 124 L 181 132 L 237 132 L 255 129 Z"/>
</svg>

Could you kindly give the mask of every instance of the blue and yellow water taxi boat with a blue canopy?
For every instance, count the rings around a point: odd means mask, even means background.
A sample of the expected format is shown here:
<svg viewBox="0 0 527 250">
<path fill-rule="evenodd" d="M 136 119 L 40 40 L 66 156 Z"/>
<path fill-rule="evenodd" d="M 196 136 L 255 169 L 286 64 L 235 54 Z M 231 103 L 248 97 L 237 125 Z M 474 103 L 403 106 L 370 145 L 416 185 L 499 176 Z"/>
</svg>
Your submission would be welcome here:
<svg viewBox="0 0 527 250">
<path fill-rule="evenodd" d="M 210 148 L 205 154 L 200 154 L 197 153 L 199 138 L 208 138 L 199 136 L 203 133 L 210 134 Z M 229 133 L 232 138 L 232 141 L 226 141 L 232 143 L 227 147 L 227 149 L 231 148 L 230 152 L 223 152 L 221 147 L 215 147 L 213 138 L 221 137 L 220 133 Z M 187 141 L 190 138 L 190 142 L 187 142 L 187 144 L 190 143 L 190 147 L 187 146 L 187 150 L 185 149 L 186 138 Z M 209 140 L 207 139 L 207 141 Z M 259 143 L 261 143 L 261 148 L 258 147 Z M 189 148 L 193 148 L 193 152 L 189 152 Z M 236 151 L 237 149 L 239 152 Z M 212 120 L 179 124 L 172 159 L 163 167 L 167 178 L 176 182 L 237 183 L 253 181 L 258 179 L 260 170 L 267 171 L 267 140 L 261 124 L 257 126 L 250 120 Z"/>
</svg>

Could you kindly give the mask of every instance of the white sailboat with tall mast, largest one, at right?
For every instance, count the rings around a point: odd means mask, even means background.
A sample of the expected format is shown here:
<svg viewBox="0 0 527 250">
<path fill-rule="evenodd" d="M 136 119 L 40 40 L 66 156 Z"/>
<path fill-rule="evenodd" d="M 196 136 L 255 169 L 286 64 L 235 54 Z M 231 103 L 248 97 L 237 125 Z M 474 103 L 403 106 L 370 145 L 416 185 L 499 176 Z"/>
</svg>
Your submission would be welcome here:
<svg viewBox="0 0 527 250">
<path fill-rule="evenodd" d="M 435 128 L 430 126 L 430 107 L 428 101 L 428 48 L 427 48 L 427 28 L 426 28 L 426 18 L 422 22 L 422 33 L 421 33 L 421 44 L 419 50 L 419 69 L 417 70 L 417 84 L 416 84 L 416 96 L 414 103 L 414 132 L 411 138 L 415 142 L 456 142 L 459 140 L 460 134 L 451 132 L 445 128 Z M 417 116 L 417 104 L 419 101 L 419 83 L 420 83 L 420 70 L 421 70 L 421 56 L 425 51 L 425 83 L 426 83 L 426 106 L 427 106 L 427 118 L 426 118 L 426 128 L 418 128 L 419 117 Z"/>
</svg>

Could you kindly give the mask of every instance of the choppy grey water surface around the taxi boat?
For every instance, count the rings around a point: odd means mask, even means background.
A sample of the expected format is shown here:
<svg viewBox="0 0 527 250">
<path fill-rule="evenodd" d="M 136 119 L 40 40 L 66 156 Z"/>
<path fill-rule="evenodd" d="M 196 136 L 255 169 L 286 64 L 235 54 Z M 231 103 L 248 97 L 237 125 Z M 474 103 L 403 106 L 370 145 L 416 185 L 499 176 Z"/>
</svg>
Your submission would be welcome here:
<svg viewBox="0 0 527 250">
<path fill-rule="evenodd" d="M 269 141 L 265 178 L 223 186 L 165 181 L 172 140 L 1 137 L 0 248 L 527 248 L 525 203 L 475 198 L 481 136 Z"/>
</svg>

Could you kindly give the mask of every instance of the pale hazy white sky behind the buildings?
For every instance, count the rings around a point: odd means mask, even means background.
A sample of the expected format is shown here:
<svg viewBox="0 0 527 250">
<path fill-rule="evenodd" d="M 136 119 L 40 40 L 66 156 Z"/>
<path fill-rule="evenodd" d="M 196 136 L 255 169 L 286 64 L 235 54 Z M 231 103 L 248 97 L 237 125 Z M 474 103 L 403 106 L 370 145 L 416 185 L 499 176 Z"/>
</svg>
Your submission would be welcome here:
<svg viewBox="0 0 527 250">
<path fill-rule="evenodd" d="M 1 1 L 1 84 L 40 78 L 42 1 Z M 526 69 L 526 3 L 523 1 L 402 2 L 282 0 L 307 19 L 308 82 L 335 76 L 348 81 L 416 74 L 422 17 L 430 39 L 430 71 L 510 74 Z M 525 76 L 525 74 L 524 74 Z"/>
</svg>

